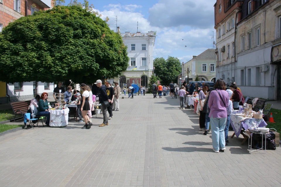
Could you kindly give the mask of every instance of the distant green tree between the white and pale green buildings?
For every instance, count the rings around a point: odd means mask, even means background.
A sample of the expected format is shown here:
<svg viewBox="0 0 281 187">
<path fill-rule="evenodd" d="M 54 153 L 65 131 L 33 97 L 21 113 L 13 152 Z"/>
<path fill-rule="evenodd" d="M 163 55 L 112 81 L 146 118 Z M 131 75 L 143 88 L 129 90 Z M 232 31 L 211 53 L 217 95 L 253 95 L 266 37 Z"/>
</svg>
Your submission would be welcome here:
<svg viewBox="0 0 281 187">
<path fill-rule="evenodd" d="M 162 80 L 162 85 L 169 85 L 171 81 L 177 82 L 177 76 L 181 73 L 181 62 L 178 58 L 168 56 L 165 60 L 163 57 L 153 60 L 155 74 Z"/>
</svg>

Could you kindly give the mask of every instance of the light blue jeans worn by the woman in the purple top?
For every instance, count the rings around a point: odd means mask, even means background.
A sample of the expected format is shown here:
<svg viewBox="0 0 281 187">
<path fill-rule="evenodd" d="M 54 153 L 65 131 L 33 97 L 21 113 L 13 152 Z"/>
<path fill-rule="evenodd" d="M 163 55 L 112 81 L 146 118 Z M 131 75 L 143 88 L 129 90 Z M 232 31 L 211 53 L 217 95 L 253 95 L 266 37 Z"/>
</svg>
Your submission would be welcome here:
<svg viewBox="0 0 281 187">
<path fill-rule="evenodd" d="M 210 123 L 212 128 L 212 143 L 214 150 L 220 150 L 225 148 L 225 118 L 210 117 Z"/>
</svg>

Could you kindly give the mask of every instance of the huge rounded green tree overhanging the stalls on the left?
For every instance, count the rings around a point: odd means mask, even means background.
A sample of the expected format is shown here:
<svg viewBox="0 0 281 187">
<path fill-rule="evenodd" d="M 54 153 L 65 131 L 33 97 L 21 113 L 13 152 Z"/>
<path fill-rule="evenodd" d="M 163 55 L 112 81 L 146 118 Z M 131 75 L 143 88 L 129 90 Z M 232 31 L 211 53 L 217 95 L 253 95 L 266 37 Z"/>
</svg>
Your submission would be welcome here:
<svg viewBox="0 0 281 187">
<path fill-rule="evenodd" d="M 92 83 L 120 75 L 127 47 L 92 10 L 74 1 L 9 23 L 0 33 L 0 81 Z"/>
</svg>

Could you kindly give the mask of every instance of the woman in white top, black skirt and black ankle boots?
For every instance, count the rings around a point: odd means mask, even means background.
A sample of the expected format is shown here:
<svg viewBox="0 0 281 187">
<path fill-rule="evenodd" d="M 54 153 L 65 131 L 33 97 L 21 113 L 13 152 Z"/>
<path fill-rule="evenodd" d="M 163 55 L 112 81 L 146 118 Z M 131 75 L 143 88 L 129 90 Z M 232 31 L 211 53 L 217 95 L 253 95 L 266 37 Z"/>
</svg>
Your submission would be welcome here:
<svg viewBox="0 0 281 187">
<path fill-rule="evenodd" d="M 90 110 L 90 104 L 89 104 L 90 92 L 89 91 L 91 91 L 91 89 L 88 85 L 85 85 L 84 83 L 82 83 L 80 85 L 80 88 L 84 90 L 84 92 L 82 94 L 81 112 L 82 112 L 82 116 L 85 120 L 85 125 L 82 127 L 82 129 L 90 129 L 92 126 L 92 123 L 90 122 L 90 118 L 88 117 L 87 113 L 88 113 L 88 110 Z"/>
</svg>

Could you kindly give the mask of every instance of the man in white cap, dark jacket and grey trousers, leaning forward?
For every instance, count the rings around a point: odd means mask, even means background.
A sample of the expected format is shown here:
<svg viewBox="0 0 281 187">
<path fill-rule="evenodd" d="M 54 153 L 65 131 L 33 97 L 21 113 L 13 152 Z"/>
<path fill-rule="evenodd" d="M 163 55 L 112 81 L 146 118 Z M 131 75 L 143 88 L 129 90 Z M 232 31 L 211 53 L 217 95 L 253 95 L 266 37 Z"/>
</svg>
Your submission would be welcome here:
<svg viewBox="0 0 281 187">
<path fill-rule="evenodd" d="M 97 80 L 95 82 L 97 87 L 99 87 L 99 102 L 102 104 L 102 115 L 103 115 L 103 123 L 100 125 L 100 127 L 104 127 L 108 125 L 108 119 L 107 119 L 107 107 L 104 105 L 104 101 L 111 102 L 111 100 L 108 98 L 108 95 L 106 93 L 106 87 L 102 84 L 101 80 Z"/>
</svg>

